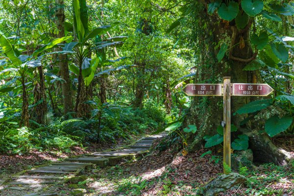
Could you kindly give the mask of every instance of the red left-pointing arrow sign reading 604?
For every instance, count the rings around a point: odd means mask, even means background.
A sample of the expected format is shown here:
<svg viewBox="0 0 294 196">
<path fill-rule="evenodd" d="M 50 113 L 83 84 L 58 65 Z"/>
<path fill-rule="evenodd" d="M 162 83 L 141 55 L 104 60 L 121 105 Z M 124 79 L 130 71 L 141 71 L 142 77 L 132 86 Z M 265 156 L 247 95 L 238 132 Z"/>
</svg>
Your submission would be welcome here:
<svg viewBox="0 0 294 196">
<path fill-rule="evenodd" d="M 221 96 L 221 84 L 187 84 L 183 91 L 187 96 Z"/>
</svg>

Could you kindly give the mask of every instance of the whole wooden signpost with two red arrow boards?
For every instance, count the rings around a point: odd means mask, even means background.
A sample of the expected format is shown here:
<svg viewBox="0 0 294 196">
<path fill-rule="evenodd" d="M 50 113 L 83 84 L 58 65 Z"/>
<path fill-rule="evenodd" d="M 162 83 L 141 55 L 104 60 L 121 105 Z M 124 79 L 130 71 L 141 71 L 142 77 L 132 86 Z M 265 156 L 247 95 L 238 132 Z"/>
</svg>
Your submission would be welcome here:
<svg viewBox="0 0 294 196">
<path fill-rule="evenodd" d="M 222 88 L 221 88 L 222 87 Z M 223 96 L 223 161 L 231 167 L 231 96 L 268 96 L 273 89 L 268 84 L 232 83 L 223 77 L 223 84 L 187 84 L 187 96 Z"/>
</svg>

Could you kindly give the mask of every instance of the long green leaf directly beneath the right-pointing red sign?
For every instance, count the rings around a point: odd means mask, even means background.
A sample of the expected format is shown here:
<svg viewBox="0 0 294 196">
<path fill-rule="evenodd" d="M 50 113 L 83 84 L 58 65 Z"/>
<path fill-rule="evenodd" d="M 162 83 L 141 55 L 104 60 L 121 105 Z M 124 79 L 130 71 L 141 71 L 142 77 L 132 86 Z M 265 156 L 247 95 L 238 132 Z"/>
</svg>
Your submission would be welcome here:
<svg viewBox="0 0 294 196">
<path fill-rule="evenodd" d="M 261 99 L 261 100 L 256 100 L 252 101 L 250 103 L 247 103 L 243 105 L 241 108 L 237 110 L 238 114 L 247 114 L 247 113 L 252 113 L 256 112 L 262 109 L 267 108 L 268 106 L 272 105 L 272 99 Z"/>
</svg>

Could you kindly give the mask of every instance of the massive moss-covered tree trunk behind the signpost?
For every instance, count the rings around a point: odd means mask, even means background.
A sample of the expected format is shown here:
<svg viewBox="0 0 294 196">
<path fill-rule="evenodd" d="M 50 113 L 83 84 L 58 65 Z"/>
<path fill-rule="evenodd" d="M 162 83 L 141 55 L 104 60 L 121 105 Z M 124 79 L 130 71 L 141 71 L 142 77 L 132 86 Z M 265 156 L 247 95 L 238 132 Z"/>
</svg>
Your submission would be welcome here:
<svg viewBox="0 0 294 196">
<path fill-rule="evenodd" d="M 262 83 L 259 71 L 243 71 L 243 68 L 250 61 L 254 60 L 256 53 L 253 52 L 250 46 L 250 42 L 244 42 L 243 40 L 249 40 L 249 32 L 252 21 L 249 21 L 248 25 L 244 29 L 237 29 L 233 22 L 227 23 L 219 19 L 218 16 L 210 16 L 207 14 L 206 4 L 209 0 L 194 1 L 192 8 L 194 10 L 194 19 L 190 21 L 194 35 L 197 37 L 197 49 L 199 58 L 198 66 L 196 70 L 196 83 L 222 83 L 222 77 L 231 76 L 232 83 Z M 206 26 L 205 29 L 198 30 L 199 26 Z M 217 61 L 217 54 L 219 52 L 222 43 L 226 43 L 229 47 L 229 51 L 219 63 Z M 232 97 L 231 112 L 236 112 L 240 106 L 249 102 L 249 97 L 234 96 Z M 185 117 L 184 126 L 189 124 L 195 124 L 198 128 L 196 135 L 190 138 L 190 151 L 203 147 L 205 135 L 215 135 L 217 132 L 217 126 L 220 124 L 223 118 L 222 97 L 194 97 L 191 103 L 191 108 Z M 254 129 L 254 124 L 240 126 L 245 115 L 232 116 L 232 123 L 238 127 L 239 133 L 246 133 L 246 130 Z M 249 131 L 250 132 L 250 131 Z M 267 140 L 267 144 L 261 144 L 257 140 L 259 136 L 254 132 L 250 135 L 250 146 L 253 153 L 256 153 L 256 149 L 270 149 L 272 143 Z M 233 135 L 234 136 L 234 135 Z M 269 150 L 266 161 L 277 163 L 274 155 L 274 150 Z M 265 154 L 263 154 L 265 156 Z M 284 156 L 285 158 L 286 156 Z M 255 157 L 256 158 L 256 157 Z M 283 162 L 279 159 L 278 162 Z"/>
</svg>

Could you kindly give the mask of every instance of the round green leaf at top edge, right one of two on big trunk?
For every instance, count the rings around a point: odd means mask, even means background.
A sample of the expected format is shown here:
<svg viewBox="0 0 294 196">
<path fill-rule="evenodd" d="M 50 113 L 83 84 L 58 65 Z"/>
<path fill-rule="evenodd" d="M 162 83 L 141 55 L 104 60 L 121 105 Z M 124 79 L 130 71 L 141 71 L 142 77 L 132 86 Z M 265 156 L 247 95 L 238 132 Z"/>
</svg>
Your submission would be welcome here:
<svg viewBox="0 0 294 196">
<path fill-rule="evenodd" d="M 264 3 L 262 0 L 242 0 L 241 6 L 248 16 L 256 16 L 262 11 Z"/>
</svg>

